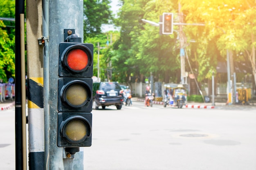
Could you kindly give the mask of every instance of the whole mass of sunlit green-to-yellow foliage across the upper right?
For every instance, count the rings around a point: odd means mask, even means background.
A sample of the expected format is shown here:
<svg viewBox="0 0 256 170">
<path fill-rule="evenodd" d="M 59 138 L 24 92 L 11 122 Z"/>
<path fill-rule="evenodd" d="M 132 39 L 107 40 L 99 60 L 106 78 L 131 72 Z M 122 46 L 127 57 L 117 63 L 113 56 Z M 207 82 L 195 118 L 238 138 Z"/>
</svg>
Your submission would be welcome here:
<svg viewBox="0 0 256 170">
<path fill-rule="evenodd" d="M 218 62 L 227 60 L 229 50 L 234 51 L 234 61 L 251 62 L 252 73 L 256 79 L 254 0 L 119 2 L 122 6 L 118 17 L 113 20 L 120 27 L 119 35 L 100 54 L 103 60 L 101 68 L 106 72 L 109 69 L 112 71 L 112 80 L 127 83 L 135 79 L 144 81 L 144 78 L 153 73 L 155 81 L 180 82 L 179 27 L 174 25 L 173 35 L 159 35 L 159 27 L 141 22 L 141 19 L 146 19 L 158 23 L 163 12 L 172 12 L 174 22 L 179 22 L 179 3 L 184 22 L 204 23 L 204 26 L 182 26 L 186 37 L 186 55 L 192 67 L 190 70 L 186 62 L 186 71 L 193 71 L 198 81 L 202 82 L 210 78 L 213 71 L 216 72 Z M 96 27 L 91 28 L 91 32 L 99 30 Z M 106 74 L 101 76 L 106 78 Z"/>
</svg>

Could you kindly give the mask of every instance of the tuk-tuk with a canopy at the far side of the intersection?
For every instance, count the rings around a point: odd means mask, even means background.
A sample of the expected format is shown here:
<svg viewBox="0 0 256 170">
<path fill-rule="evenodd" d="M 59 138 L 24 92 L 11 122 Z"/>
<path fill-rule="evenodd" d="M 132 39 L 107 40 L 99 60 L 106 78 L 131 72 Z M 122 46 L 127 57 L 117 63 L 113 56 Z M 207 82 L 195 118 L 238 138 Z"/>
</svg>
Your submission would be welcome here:
<svg viewBox="0 0 256 170">
<path fill-rule="evenodd" d="M 186 97 L 186 88 L 182 84 L 164 84 L 164 107 L 171 105 L 182 108 Z"/>
</svg>

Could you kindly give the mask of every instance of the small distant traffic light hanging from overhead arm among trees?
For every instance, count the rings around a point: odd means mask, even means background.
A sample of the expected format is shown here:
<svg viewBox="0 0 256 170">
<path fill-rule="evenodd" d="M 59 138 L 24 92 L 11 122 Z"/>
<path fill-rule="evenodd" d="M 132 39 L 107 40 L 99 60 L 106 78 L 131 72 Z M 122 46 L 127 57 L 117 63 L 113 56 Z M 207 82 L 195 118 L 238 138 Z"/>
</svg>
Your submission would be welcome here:
<svg viewBox="0 0 256 170">
<path fill-rule="evenodd" d="M 173 13 L 163 13 L 162 34 L 173 33 Z"/>
</svg>

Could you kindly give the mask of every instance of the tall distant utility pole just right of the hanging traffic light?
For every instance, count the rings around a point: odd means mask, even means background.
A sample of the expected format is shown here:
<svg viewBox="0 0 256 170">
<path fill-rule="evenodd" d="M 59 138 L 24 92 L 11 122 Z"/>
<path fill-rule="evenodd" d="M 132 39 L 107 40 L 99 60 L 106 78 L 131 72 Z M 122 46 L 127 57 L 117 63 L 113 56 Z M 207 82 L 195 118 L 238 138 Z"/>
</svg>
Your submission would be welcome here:
<svg viewBox="0 0 256 170">
<path fill-rule="evenodd" d="M 183 23 L 183 13 L 181 11 L 181 4 L 179 2 L 179 22 Z M 185 50 L 184 50 L 184 44 L 185 44 L 185 36 L 184 32 L 182 30 L 182 24 L 179 25 L 179 36 L 180 36 L 180 80 L 181 84 L 186 84 L 186 72 L 185 72 Z"/>
</svg>

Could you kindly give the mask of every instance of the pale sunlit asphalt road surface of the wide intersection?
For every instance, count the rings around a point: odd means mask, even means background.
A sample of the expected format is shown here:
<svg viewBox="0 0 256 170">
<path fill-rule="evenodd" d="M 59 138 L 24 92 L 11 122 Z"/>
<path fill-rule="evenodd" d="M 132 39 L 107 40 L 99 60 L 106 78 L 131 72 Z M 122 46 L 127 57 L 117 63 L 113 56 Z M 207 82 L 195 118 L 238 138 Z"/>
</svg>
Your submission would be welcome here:
<svg viewBox="0 0 256 170">
<path fill-rule="evenodd" d="M 84 170 L 255 170 L 256 108 L 93 110 Z M 15 169 L 15 110 L 0 111 L 0 169 Z"/>
</svg>

